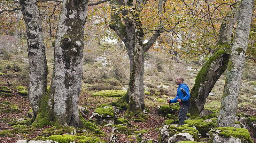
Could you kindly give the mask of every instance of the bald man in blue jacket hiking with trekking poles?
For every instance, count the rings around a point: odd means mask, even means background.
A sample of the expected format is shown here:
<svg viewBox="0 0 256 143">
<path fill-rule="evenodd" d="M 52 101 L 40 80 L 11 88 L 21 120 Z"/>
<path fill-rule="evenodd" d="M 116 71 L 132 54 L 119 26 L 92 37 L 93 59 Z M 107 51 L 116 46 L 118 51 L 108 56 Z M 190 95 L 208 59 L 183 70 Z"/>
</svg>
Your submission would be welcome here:
<svg viewBox="0 0 256 143">
<path fill-rule="evenodd" d="M 184 120 L 187 117 L 188 108 L 190 107 L 190 94 L 189 94 L 189 87 L 187 84 L 183 83 L 184 78 L 183 77 L 177 77 L 176 78 L 176 84 L 179 85 L 177 88 L 177 95 L 174 99 L 170 100 L 167 99 L 167 102 L 170 103 L 176 103 L 179 102 L 180 109 L 179 109 L 179 124 L 183 125 Z"/>
</svg>

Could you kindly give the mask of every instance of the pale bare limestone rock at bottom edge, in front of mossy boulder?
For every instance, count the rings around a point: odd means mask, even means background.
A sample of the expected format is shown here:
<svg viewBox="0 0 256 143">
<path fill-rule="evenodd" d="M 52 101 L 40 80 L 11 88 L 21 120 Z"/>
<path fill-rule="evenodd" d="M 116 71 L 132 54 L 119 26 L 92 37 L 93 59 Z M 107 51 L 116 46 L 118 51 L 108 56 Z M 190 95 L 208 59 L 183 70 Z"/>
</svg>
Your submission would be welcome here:
<svg viewBox="0 0 256 143">
<path fill-rule="evenodd" d="M 177 143 L 180 141 L 194 141 L 194 138 L 189 133 L 178 133 L 170 137 L 168 143 Z"/>
</svg>

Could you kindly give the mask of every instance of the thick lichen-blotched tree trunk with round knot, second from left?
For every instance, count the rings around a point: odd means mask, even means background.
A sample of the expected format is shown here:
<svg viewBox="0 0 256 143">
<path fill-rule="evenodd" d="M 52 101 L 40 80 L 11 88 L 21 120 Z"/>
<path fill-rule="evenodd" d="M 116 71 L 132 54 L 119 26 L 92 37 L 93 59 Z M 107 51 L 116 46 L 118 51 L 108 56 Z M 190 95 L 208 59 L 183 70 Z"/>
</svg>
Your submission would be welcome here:
<svg viewBox="0 0 256 143">
<path fill-rule="evenodd" d="M 54 46 L 52 94 L 54 118 L 60 125 L 81 127 L 78 97 L 82 86 L 82 57 L 87 0 L 63 0 Z"/>
</svg>

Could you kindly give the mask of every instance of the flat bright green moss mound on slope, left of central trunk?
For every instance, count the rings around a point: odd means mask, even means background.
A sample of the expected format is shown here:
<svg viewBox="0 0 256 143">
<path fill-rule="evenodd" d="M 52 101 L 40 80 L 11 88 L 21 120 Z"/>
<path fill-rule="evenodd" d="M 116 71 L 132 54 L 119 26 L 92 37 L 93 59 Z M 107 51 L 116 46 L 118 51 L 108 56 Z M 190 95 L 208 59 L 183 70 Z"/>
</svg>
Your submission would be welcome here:
<svg viewBox="0 0 256 143">
<path fill-rule="evenodd" d="M 92 96 L 122 97 L 126 92 L 127 90 L 102 90 L 93 93 Z"/>
</svg>

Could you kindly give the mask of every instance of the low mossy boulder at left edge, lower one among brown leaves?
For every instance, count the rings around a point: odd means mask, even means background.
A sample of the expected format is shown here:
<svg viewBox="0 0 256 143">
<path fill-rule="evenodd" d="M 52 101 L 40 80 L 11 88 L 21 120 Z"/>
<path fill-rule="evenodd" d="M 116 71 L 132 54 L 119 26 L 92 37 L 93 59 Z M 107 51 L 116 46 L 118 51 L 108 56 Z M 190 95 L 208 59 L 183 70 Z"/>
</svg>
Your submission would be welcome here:
<svg viewBox="0 0 256 143">
<path fill-rule="evenodd" d="M 9 101 L 0 101 L 0 112 L 3 113 L 20 113 L 21 109 L 16 104 Z"/>
</svg>

